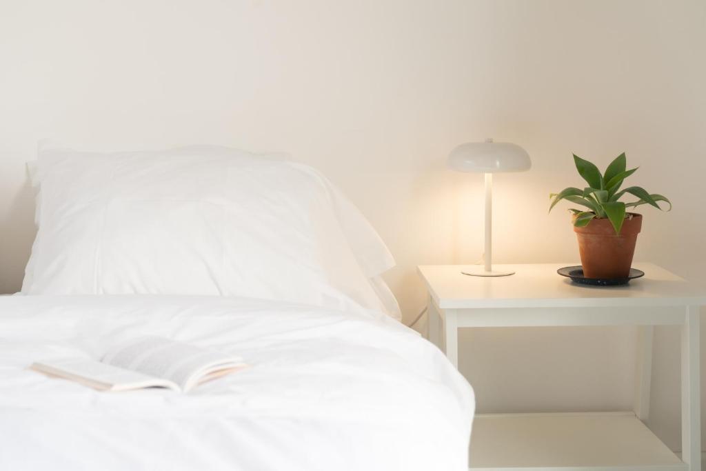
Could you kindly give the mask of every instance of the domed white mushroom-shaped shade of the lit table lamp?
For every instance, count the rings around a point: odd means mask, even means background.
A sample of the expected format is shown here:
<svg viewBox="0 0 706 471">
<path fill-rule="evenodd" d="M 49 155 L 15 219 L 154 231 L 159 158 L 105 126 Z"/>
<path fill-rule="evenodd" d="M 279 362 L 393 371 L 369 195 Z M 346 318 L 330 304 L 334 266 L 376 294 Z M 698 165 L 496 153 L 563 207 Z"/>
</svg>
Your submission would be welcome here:
<svg viewBox="0 0 706 471">
<path fill-rule="evenodd" d="M 522 172 L 532 167 L 532 160 L 517 144 L 489 139 L 459 145 L 449 154 L 448 165 L 459 172 Z"/>
</svg>

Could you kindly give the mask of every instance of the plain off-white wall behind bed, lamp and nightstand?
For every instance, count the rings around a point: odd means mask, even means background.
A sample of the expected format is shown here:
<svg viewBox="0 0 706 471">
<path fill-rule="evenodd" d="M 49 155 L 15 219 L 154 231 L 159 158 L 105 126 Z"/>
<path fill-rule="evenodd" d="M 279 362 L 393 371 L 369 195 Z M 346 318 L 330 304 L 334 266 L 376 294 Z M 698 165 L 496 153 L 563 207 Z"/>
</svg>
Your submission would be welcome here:
<svg viewBox="0 0 706 471">
<path fill-rule="evenodd" d="M 415 266 L 480 256 L 481 177 L 445 169 L 451 148 L 493 136 L 532 155 L 496 178 L 498 262 L 575 261 L 548 193 L 580 184 L 572 152 L 625 150 L 635 184 L 675 204 L 645 210 L 637 258 L 704 281 L 705 49 L 702 0 L 4 0 L 0 292 L 20 287 L 24 162 L 43 137 L 289 151 L 388 242 L 407 320 L 425 298 Z M 463 337 L 481 411 L 629 407 L 632 328 Z M 657 332 L 651 425 L 678 450 L 677 338 Z"/>
</svg>

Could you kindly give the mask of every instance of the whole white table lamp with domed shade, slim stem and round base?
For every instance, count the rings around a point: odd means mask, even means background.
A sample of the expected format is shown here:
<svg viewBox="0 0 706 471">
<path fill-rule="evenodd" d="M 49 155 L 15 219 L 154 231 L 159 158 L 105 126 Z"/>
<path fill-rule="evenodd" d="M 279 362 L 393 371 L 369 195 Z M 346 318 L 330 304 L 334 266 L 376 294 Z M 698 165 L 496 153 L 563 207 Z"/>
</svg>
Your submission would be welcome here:
<svg viewBox="0 0 706 471">
<path fill-rule="evenodd" d="M 530 154 L 517 144 L 507 142 L 465 143 L 451 151 L 448 165 L 459 172 L 482 172 L 485 175 L 485 251 L 483 270 L 465 270 L 464 275 L 472 276 L 507 276 L 513 271 L 493 271 L 492 232 L 493 232 L 493 173 L 522 172 L 532 167 Z"/>
</svg>

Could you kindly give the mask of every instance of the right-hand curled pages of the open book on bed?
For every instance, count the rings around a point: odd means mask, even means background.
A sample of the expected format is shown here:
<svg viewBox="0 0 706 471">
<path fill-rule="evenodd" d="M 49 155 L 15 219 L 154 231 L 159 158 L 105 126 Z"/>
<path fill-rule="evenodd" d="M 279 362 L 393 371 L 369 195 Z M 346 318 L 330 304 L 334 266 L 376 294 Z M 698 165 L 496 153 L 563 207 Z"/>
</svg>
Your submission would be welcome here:
<svg viewBox="0 0 706 471">
<path fill-rule="evenodd" d="M 214 371 L 244 366 L 240 357 L 162 337 L 142 337 L 110 349 L 102 362 L 168 379 L 187 391 Z"/>
</svg>

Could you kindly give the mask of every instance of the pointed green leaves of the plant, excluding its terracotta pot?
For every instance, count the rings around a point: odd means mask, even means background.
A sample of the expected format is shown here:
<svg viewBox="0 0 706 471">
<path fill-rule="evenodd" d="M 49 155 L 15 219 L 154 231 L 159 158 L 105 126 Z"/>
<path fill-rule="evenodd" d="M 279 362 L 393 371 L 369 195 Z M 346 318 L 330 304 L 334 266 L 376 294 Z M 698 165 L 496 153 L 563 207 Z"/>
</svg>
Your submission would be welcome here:
<svg viewBox="0 0 706 471">
<path fill-rule="evenodd" d="M 627 170 L 627 162 L 625 153 L 610 163 L 606 171 L 601 174 L 598 167 L 592 162 L 584 160 L 578 155 L 574 155 L 574 163 L 581 177 L 586 181 L 588 186 L 584 189 L 570 186 L 558 193 L 551 193 L 551 205 L 549 210 L 561 200 L 567 200 L 576 205 L 580 205 L 581 209 L 570 209 L 573 213 L 573 225 L 577 227 L 587 226 L 594 218 L 607 217 L 611 221 L 611 225 L 616 230 L 616 234 L 620 234 L 623 227 L 623 221 L 628 217 L 627 210 L 635 208 L 639 205 L 649 204 L 661 210 L 657 204 L 658 201 L 663 201 L 669 205 L 668 211 L 671 210 L 669 200 L 657 193 L 648 193 L 640 186 L 629 186 L 621 190 L 623 181 L 630 177 L 638 168 Z M 638 198 L 637 201 L 624 203 L 619 201 L 623 196 L 632 195 Z"/>
</svg>

